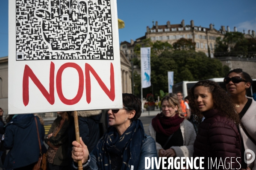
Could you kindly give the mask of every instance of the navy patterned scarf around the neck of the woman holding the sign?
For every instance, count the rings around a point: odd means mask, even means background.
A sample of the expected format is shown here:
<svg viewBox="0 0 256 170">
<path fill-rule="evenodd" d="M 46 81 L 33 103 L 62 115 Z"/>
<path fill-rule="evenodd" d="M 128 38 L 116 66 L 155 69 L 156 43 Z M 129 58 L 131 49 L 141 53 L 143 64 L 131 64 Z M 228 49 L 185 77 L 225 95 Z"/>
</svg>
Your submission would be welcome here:
<svg viewBox="0 0 256 170">
<path fill-rule="evenodd" d="M 97 166 L 99 170 L 112 170 L 111 155 L 122 158 L 121 170 L 137 169 L 144 139 L 144 128 L 141 120 L 133 121 L 119 137 L 115 127 L 109 127 L 97 144 Z"/>
</svg>

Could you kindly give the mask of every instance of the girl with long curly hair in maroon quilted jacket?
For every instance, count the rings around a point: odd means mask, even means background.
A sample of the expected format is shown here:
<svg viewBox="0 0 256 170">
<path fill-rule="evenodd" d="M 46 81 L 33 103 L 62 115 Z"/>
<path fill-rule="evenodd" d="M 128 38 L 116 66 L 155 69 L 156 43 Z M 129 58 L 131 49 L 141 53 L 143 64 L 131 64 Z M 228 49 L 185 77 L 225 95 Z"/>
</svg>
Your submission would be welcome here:
<svg viewBox="0 0 256 170">
<path fill-rule="evenodd" d="M 199 81 L 188 95 L 191 112 L 201 122 L 194 141 L 193 157 L 204 157 L 203 167 L 241 169 L 239 117 L 230 96 L 214 81 Z M 223 166 L 219 166 L 223 164 Z M 197 162 L 199 165 L 199 162 Z"/>
</svg>

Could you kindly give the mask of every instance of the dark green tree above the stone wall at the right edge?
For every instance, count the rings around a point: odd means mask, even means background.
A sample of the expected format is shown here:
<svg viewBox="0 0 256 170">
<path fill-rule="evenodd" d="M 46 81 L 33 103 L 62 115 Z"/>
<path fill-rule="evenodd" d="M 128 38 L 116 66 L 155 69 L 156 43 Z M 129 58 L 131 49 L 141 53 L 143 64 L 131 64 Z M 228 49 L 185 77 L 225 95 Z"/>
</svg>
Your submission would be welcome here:
<svg viewBox="0 0 256 170">
<path fill-rule="evenodd" d="M 241 32 L 227 32 L 221 40 L 216 40 L 215 57 L 256 58 L 256 39 L 245 38 Z"/>
</svg>

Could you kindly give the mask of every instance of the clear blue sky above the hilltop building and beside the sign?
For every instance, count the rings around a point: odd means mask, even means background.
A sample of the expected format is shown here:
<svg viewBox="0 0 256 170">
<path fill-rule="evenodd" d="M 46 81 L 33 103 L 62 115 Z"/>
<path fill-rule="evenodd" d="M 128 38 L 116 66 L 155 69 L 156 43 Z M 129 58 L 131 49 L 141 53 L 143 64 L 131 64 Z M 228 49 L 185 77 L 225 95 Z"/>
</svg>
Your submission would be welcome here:
<svg viewBox="0 0 256 170">
<path fill-rule="evenodd" d="M 8 0 L 0 0 L 0 57 L 8 55 Z M 208 27 L 214 23 L 215 29 L 221 26 L 234 26 L 238 31 L 256 31 L 256 0 L 117 0 L 118 18 L 124 20 L 125 28 L 119 29 L 119 42 L 135 40 L 145 35 L 152 21 L 158 25 L 185 25 L 194 20 L 195 26 Z"/>
</svg>

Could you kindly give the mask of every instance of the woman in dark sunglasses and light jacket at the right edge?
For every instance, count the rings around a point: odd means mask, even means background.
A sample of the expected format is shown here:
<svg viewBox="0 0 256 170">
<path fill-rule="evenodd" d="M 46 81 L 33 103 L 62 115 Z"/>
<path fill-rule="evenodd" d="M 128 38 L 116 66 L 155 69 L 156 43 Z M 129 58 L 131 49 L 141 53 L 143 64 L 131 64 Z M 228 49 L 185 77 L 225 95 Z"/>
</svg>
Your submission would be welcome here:
<svg viewBox="0 0 256 170">
<path fill-rule="evenodd" d="M 256 169 L 256 161 L 250 161 L 249 158 L 244 158 L 244 153 L 247 149 L 253 150 L 253 152 L 256 153 L 256 101 L 246 97 L 246 92 L 250 90 L 252 79 L 250 75 L 243 72 L 242 69 L 233 69 L 228 73 L 227 77 L 224 78 L 224 83 L 226 84 L 227 92 L 231 95 L 236 112 L 241 120 L 241 126 L 239 127 L 239 133 L 242 138 L 241 167 L 242 169 L 250 167 L 250 169 L 254 170 Z"/>
</svg>

